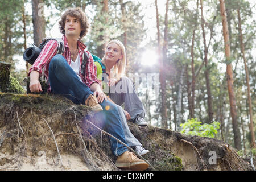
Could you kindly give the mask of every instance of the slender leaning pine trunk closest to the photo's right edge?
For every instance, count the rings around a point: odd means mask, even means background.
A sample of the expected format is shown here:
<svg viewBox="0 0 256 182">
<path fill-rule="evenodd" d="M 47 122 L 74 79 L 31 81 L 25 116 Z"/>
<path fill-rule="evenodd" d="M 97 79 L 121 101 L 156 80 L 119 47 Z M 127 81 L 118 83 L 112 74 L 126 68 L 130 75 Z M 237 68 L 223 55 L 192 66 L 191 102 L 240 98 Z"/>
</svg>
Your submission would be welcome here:
<svg viewBox="0 0 256 182">
<path fill-rule="evenodd" d="M 250 80 L 249 80 L 249 71 L 246 64 L 245 58 L 245 45 L 243 44 L 243 34 L 242 34 L 242 26 L 241 26 L 241 17 L 240 17 L 240 10 L 237 10 L 238 14 L 238 29 L 240 32 L 240 44 L 241 44 L 241 52 L 243 56 L 243 63 L 245 64 L 245 73 L 246 73 L 246 86 L 247 86 L 247 101 L 249 104 L 249 114 L 250 114 L 250 133 L 251 133 L 251 148 L 255 147 L 255 136 L 254 136 L 254 127 L 253 127 L 253 108 L 251 105 L 251 95 L 250 95 Z"/>
</svg>

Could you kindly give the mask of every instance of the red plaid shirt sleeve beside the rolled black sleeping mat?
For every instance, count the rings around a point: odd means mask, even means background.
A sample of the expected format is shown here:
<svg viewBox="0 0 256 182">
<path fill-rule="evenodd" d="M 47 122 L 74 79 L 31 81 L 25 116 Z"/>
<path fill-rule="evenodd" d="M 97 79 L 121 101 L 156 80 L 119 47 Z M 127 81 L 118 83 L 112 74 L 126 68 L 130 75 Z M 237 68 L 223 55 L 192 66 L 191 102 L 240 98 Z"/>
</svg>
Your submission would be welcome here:
<svg viewBox="0 0 256 182">
<path fill-rule="evenodd" d="M 30 68 L 28 76 L 30 75 L 31 71 L 38 71 L 40 76 L 42 76 L 42 68 L 44 68 L 51 61 L 52 57 L 56 55 L 57 47 L 58 43 L 56 40 L 49 40 Z"/>
</svg>

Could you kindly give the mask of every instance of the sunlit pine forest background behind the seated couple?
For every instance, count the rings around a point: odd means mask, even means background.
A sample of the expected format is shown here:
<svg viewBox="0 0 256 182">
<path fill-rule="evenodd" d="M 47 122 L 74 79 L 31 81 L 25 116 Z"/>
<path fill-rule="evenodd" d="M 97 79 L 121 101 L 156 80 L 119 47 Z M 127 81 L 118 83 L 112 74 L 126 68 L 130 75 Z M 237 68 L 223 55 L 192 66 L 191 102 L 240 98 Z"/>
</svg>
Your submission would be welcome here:
<svg viewBox="0 0 256 182">
<path fill-rule="evenodd" d="M 255 146 L 256 2 L 245 0 L 1 0 L 0 61 L 26 89 L 29 44 L 60 37 L 58 20 L 81 7 L 90 20 L 83 42 L 102 57 L 119 39 L 127 53 L 126 75 L 136 85 L 153 126 L 181 131 L 181 123 L 220 122 L 215 138 L 242 154 Z M 225 14 L 223 6 L 225 5 Z M 221 13 L 222 12 L 222 13 Z M 226 25 L 226 28 L 225 27 Z M 226 32 L 225 32 L 226 30 Z M 143 79 L 158 90 L 143 85 Z M 183 125 L 184 126 L 184 125 Z M 188 128 L 189 129 L 189 128 Z M 207 129 L 205 129 L 207 130 Z"/>
</svg>

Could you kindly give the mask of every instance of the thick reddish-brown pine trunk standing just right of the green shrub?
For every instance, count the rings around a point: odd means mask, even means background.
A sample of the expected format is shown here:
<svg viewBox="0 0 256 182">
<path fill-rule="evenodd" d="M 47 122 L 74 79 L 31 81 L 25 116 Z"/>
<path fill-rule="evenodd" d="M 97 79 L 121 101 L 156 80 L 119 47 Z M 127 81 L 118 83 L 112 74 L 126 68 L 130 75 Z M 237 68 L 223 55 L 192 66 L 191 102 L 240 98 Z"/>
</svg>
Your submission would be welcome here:
<svg viewBox="0 0 256 182">
<path fill-rule="evenodd" d="M 227 24 L 226 14 L 225 14 L 224 0 L 220 0 L 220 10 L 221 10 L 221 16 L 222 16 L 223 36 L 224 36 L 224 44 L 225 44 L 225 56 L 226 56 L 226 60 L 229 62 L 231 55 L 230 55 L 229 32 L 228 32 L 228 24 Z M 240 130 L 238 128 L 238 122 L 237 122 L 236 97 L 234 94 L 233 70 L 232 70 L 231 63 L 227 63 L 226 73 L 227 73 L 227 82 L 228 82 L 230 114 L 232 116 L 232 125 L 233 125 L 233 133 L 234 133 L 234 145 L 238 150 L 241 150 L 241 148 L 242 148 L 241 147 L 241 135 L 240 135 Z"/>
</svg>

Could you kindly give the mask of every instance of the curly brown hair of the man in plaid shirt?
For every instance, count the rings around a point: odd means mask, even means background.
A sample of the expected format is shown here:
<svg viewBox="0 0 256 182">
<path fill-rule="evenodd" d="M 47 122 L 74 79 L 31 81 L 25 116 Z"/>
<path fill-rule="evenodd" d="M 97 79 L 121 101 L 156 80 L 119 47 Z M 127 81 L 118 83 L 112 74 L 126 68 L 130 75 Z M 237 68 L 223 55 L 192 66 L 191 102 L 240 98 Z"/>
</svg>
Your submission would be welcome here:
<svg viewBox="0 0 256 182">
<path fill-rule="evenodd" d="M 61 20 L 59 21 L 60 32 L 61 34 L 64 34 L 64 35 L 65 35 L 64 28 L 65 28 L 67 15 L 75 17 L 80 20 L 82 31 L 80 33 L 79 39 L 82 39 L 87 34 L 89 29 L 89 22 L 88 22 L 87 16 L 79 7 L 69 8 L 67 11 L 65 11 L 65 13 L 61 16 Z"/>
</svg>

